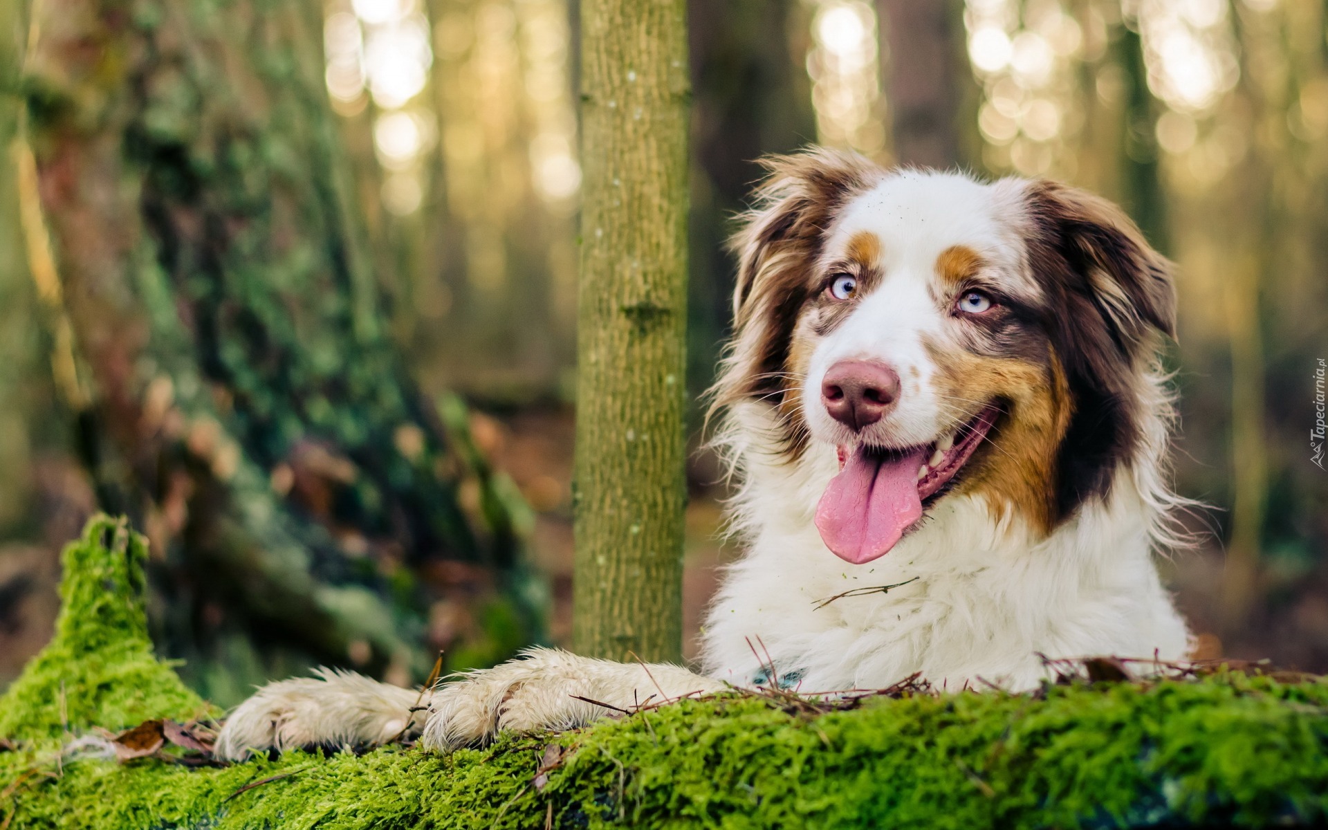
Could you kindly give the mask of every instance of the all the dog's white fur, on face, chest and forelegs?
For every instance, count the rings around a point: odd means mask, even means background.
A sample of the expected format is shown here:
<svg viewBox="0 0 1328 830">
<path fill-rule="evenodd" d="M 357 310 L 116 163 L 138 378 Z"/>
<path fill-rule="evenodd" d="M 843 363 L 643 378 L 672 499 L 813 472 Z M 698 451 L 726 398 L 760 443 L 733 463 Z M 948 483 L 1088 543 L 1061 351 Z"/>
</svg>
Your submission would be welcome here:
<svg viewBox="0 0 1328 830">
<path fill-rule="evenodd" d="M 932 506 L 886 556 L 854 566 L 831 554 L 813 525 L 838 469 L 835 445 L 857 440 L 819 405 L 821 376 L 834 361 L 883 360 L 904 380 L 899 406 L 870 428 L 867 441 L 924 444 L 952 426 L 943 422 L 935 367 L 922 344 L 924 336 L 946 340 L 956 325 L 928 293 L 936 291 L 938 254 L 969 246 L 1004 290 L 1037 299 L 1020 242 L 1021 189 L 956 174 L 887 175 L 827 231 L 826 258 L 858 231 L 876 234 L 884 279 L 813 355 L 801 396 L 811 440 L 797 461 L 774 445 L 778 416 L 770 405 L 741 402 L 726 416 L 720 446 L 738 481 L 730 517 L 746 552 L 709 610 L 705 676 L 534 649 L 426 692 L 422 718 L 409 712 L 417 692 L 324 671 L 321 680 L 276 683 L 246 701 L 227 720 L 218 753 L 376 744 L 420 732 L 421 720 L 424 745 L 448 750 L 499 729 L 564 729 L 644 703 L 752 685 L 765 680 L 768 659 L 780 675 L 798 677 L 802 692 L 842 692 L 884 688 L 914 672 L 948 689 L 1028 689 L 1046 676 L 1044 655 L 1183 657 L 1186 628 L 1153 563 L 1179 499 L 1163 483 L 1171 410 L 1150 365 L 1135 371 L 1146 409 L 1141 449 L 1117 470 L 1105 502 L 1088 499 L 1050 535 L 1017 511 L 956 494 Z M 1108 303 L 1112 313 L 1129 313 L 1121 296 Z M 898 583 L 907 584 L 817 607 L 845 591 Z"/>
</svg>

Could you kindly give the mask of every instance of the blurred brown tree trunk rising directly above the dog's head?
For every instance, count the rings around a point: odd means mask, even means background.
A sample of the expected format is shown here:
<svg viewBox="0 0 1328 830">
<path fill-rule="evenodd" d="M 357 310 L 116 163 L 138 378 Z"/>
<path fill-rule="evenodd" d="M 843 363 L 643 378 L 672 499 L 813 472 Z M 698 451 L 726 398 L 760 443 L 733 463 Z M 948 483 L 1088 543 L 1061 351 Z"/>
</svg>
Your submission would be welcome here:
<svg viewBox="0 0 1328 830">
<path fill-rule="evenodd" d="M 876 0 L 880 65 L 899 165 L 959 163 L 959 97 L 968 74 L 956 54 L 959 4 Z"/>
</svg>

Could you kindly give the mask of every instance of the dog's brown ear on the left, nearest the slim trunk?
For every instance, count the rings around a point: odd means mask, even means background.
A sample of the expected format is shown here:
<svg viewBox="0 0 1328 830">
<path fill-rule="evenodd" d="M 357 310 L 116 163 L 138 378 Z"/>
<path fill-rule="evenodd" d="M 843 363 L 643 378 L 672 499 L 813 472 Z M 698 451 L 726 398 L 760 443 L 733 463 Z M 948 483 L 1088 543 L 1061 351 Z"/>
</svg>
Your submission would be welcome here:
<svg viewBox="0 0 1328 830">
<path fill-rule="evenodd" d="M 750 319 L 753 299 L 789 268 L 801 270 L 819 254 L 821 238 L 834 211 L 850 197 L 875 183 L 882 170 L 857 153 L 811 147 L 791 155 L 761 159 L 769 171 L 756 191 L 754 207 L 741 216 L 729 240 L 738 256 L 733 290 L 733 325 Z M 781 297 L 786 299 L 786 297 Z"/>
</svg>

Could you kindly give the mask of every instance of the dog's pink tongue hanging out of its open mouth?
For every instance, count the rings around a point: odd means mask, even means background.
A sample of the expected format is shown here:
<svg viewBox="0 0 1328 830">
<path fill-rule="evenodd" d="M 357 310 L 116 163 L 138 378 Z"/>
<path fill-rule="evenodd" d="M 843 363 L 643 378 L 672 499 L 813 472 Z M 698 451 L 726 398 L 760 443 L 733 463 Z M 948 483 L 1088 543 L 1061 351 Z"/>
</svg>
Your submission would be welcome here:
<svg viewBox="0 0 1328 830">
<path fill-rule="evenodd" d="M 903 458 L 851 453 L 817 505 L 821 539 L 854 564 L 884 556 L 922 518 L 918 469 L 926 448 Z"/>
</svg>

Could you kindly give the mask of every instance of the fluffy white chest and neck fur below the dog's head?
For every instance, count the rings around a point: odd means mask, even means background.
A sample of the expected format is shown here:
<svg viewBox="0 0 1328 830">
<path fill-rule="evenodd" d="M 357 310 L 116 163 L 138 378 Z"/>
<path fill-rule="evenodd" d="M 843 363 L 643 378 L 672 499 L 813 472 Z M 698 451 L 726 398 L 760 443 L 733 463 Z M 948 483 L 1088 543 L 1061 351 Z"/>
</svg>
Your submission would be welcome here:
<svg viewBox="0 0 1328 830">
<path fill-rule="evenodd" d="M 780 671 L 802 673 L 805 692 L 884 688 L 914 672 L 950 689 L 1027 689 L 1046 676 L 1040 655 L 1185 656 L 1185 624 L 1151 559 L 1150 502 L 1165 497 L 1141 493 L 1133 471 L 1117 477 L 1106 505 L 1086 503 L 1045 539 L 1013 514 L 997 522 L 983 501 L 954 495 L 886 556 L 855 566 L 811 523 L 837 471 L 833 446 L 793 466 L 753 452 L 744 436 L 769 430 L 769 417 L 738 408 L 728 438 L 746 471 L 734 521 L 749 544 L 706 616 L 708 675 L 750 683 L 766 659 L 746 645 L 757 637 Z"/>
</svg>

